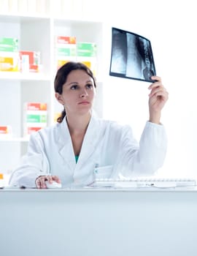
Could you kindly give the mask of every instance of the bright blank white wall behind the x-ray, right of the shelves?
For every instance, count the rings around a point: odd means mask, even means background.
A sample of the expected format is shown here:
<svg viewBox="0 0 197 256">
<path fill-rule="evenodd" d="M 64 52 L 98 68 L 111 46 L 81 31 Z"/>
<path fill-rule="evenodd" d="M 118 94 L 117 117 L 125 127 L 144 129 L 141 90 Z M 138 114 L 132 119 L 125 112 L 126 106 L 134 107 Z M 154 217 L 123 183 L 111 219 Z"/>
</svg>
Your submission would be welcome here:
<svg viewBox="0 0 197 256">
<path fill-rule="evenodd" d="M 169 148 L 161 175 L 196 176 L 195 1 L 122 0 L 106 4 L 109 6 L 105 7 L 104 17 L 109 17 L 109 25 L 150 39 L 157 75 L 169 91 L 169 101 L 161 119 L 168 134 Z M 107 45 L 106 54 L 109 54 L 109 48 Z M 109 63 L 107 66 L 109 70 Z M 131 124 L 136 138 L 148 118 L 148 85 L 111 77 L 104 88 L 104 116 Z"/>
</svg>

